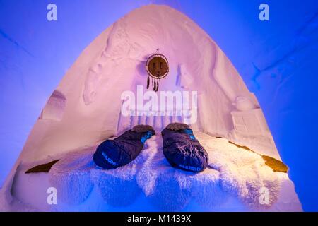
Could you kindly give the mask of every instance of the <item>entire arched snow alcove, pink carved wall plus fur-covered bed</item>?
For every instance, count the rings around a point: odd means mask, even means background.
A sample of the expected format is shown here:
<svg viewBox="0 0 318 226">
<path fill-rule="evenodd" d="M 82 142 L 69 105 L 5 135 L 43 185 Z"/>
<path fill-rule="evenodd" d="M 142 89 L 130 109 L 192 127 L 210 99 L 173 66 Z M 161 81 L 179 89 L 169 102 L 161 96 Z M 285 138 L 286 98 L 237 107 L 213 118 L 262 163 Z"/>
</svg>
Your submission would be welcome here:
<svg viewBox="0 0 318 226">
<path fill-rule="evenodd" d="M 158 92 L 146 89 L 145 69 L 156 49 L 169 61 Z M 193 175 L 167 165 L 160 131 L 171 122 L 191 126 L 209 169 Z M 96 169 L 96 145 L 137 124 L 157 131 L 141 156 L 111 172 Z M 183 13 L 143 6 L 102 32 L 66 72 L 1 190 L 3 208 L 302 210 L 288 174 L 269 159 L 281 161 L 259 102 L 218 44 Z M 25 174 L 51 160 L 59 162 L 49 173 Z M 57 206 L 46 203 L 48 187 L 59 191 Z M 270 198 L 262 206 L 264 188 Z"/>
</svg>

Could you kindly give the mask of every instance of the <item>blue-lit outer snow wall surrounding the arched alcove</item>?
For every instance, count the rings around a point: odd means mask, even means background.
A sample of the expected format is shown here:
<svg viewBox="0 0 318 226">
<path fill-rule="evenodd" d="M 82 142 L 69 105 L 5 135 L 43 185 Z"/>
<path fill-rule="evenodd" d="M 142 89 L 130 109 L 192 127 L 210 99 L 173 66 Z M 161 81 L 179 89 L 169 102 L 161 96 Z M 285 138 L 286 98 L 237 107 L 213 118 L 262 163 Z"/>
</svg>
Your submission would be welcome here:
<svg viewBox="0 0 318 226">
<path fill-rule="evenodd" d="M 317 0 L 0 0 L 0 186 L 83 49 L 151 2 L 185 13 L 227 54 L 257 95 L 304 210 L 317 211 Z M 49 3 L 57 21 L 46 18 Z M 259 20 L 262 3 L 270 21 Z"/>
</svg>

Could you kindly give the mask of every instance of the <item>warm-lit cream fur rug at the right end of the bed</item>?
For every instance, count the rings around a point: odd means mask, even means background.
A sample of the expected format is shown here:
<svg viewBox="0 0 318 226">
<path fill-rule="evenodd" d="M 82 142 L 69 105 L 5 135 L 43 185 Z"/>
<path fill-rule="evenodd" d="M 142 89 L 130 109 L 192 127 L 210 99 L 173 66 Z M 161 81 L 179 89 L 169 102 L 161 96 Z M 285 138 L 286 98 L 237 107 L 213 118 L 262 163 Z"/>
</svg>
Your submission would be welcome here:
<svg viewBox="0 0 318 226">
<path fill-rule="evenodd" d="M 220 172 L 220 185 L 253 209 L 269 208 L 278 199 L 278 173 L 257 153 L 238 148 L 225 138 L 195 133 L 209 155 L 209 165 Z M 267 197 L 266 197 L 267 196 Z"/>
</svg>

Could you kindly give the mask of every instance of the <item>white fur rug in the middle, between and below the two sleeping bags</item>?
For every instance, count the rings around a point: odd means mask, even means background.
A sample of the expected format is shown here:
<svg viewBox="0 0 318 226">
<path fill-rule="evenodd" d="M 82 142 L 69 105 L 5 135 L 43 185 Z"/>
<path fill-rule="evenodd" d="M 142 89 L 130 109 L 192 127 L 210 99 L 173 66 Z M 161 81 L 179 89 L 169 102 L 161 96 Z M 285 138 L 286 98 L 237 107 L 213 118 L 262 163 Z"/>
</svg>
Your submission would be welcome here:
<svg viewBox="0 0 318 226">
<path fill-rule="evenodd" d="M 182 210 L 191 198 L 201 205 L 217 205 L 223 198 L 220 173 L 206 169 L 194 174 L 175 169 L 165 159 L 162 137 L 153 136 L 143 151 L 148 158 L 137 175 L 137 182 L 153 205 L 162 210 Z"/>
</svg>

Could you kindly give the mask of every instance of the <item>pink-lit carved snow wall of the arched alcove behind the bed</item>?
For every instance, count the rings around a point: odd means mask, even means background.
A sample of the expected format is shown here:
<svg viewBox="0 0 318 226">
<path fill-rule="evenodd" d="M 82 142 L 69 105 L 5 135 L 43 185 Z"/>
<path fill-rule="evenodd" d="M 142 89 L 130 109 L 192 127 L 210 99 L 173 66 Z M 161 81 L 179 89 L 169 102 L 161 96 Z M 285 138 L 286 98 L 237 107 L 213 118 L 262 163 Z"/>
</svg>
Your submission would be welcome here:
<svg viewBox="0 0 318 226">
<path fill-rule="evenodd" d="M 122 93 L 137 93 L 141 85 L 146 92 L 144 65 L 157 48 L 170 64 L 160 90 L 197 93 L 194 130 L 279 158 L 259 103 L 230 60 L 191 19 L 158 5 L 131 11 L 83 51 L 57 88 L 67 100 L 63 117 L 37 121 L 21 158 L 40 160 L 96 143 L 135 124 L 151 124 L 160 131 L 169 122 L 183 121 L 173 115 L 121 114 Z"/>
</svg>

